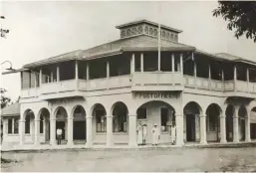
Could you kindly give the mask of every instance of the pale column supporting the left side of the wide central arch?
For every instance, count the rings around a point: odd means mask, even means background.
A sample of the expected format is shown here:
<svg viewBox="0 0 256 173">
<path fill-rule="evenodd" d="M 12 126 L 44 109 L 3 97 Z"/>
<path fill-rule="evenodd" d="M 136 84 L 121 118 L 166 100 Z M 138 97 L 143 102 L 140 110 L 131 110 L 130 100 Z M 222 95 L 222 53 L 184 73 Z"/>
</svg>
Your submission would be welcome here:
<svg viewBox="0 0 256 173">
<path fill-rule="evenodd" d="M 128 115 L 128 145 L 136 146 L 136 114 Z"/>
</svg>

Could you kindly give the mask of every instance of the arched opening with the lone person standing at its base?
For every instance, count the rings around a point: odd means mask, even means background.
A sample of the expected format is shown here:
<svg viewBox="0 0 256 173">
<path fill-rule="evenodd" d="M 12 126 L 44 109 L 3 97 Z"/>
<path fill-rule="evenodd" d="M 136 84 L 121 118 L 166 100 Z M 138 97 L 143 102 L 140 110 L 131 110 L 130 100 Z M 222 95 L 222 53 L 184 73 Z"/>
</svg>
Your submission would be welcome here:
<svg viewBox="0 0 256 173">
<path fill-rule="evenodd" d="M 62 139 L 65 139 L 67 141 L 68 139 L 68 113 L 67 110 L 60 106 L 57 108 L 56 111 L 56 130 L 58 128 L 62 129 Z M 57 137 L 57 135 L 56 135 Z M 57 138 L 56 138 L 57 139 Z"/>
</svg>

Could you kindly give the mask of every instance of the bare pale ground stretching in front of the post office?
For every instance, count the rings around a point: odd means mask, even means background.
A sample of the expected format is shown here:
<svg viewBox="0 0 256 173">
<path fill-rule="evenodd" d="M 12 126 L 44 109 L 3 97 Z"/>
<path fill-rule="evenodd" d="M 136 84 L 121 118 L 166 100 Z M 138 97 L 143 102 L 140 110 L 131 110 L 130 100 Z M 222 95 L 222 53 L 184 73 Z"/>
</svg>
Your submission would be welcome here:
<svg viewBox="0 0 256 173">
<path fill-rule="evenodd" d="M 256 171 L 255 147 L 3 152 L 2 172 Z"/>
</svg>

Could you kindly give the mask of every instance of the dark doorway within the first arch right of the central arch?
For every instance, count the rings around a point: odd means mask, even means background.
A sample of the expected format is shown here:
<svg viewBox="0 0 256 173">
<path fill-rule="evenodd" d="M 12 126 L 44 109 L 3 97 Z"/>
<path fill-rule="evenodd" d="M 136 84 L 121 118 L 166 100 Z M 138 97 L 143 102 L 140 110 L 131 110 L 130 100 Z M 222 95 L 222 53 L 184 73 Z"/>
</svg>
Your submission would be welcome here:
<svg viewBox="0 0 256 173">
<path fill-rule="evenodd" d="M 195 141 L 195 114 L 186 114 L 186 141 Z"/>
</svg>

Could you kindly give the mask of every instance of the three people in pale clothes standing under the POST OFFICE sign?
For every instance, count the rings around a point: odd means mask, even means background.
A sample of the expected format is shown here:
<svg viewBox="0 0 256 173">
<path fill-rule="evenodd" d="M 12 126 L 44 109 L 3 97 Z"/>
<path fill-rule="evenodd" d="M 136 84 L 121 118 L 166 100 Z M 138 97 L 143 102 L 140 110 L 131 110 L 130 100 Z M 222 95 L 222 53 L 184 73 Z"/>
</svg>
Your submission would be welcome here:
<svg viewBox="0 0 256 173">
<path fill-rule="evenodd" d="M 141 122 L 139 121 L 136 128 L 136 132 L 137 132 L 137 145 L 145 145 L 145 139 L 147 135 L 146 124 L 142 125 Z M 151 133 L 152 133 L 152 145 L 158 145 L 158 140 L 160 139 L 160 131 L 156 123 L 153 124 Z M 175 123 L 173 122 L 170 129 L 170 141 L 172 145 L 175 144 L 175 139 L 176 139 L 176 126 L 175 126 Z"/>
</svg>

